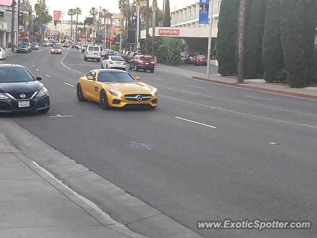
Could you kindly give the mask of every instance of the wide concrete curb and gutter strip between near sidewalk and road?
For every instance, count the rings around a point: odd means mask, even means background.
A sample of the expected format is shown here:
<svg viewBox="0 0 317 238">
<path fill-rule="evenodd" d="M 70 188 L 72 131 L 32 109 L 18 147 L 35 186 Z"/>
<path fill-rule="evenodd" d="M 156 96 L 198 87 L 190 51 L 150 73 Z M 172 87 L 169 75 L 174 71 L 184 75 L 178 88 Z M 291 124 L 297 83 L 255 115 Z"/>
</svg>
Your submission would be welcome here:
<svg viewBox="0 0 317 238">
<path fill-rule="evenodd" d="M 7 144 L 12 145 L 11 148 L 17 148 L 15 152 L 19 151 L 22 156 L 51 173 L 63 185 L 92 201 L 116 222 L 130 229 L 129 233 L 134 233 L 131 237 L 203 238 L 109 180 L 63 155 L 12 119 L 0 119 L 0 130 L 12 142 Z"/>
</svg>

